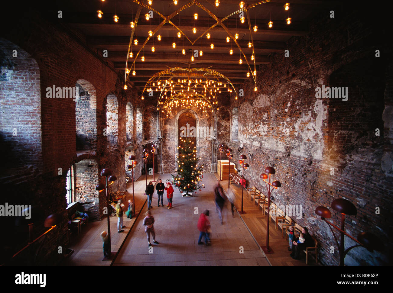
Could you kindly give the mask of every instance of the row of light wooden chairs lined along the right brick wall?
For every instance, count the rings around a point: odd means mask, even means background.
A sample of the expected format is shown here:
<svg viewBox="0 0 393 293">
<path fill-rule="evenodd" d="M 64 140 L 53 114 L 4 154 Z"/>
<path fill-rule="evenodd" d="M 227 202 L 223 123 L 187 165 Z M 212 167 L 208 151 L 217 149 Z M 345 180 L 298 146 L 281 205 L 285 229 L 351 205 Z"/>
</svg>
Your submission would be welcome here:
<svg viewBox="0 0 393 293">
<path fill-rule="evenodd" d="M 247 192 L 250 195 L 250 200 L 253 201 L 253 204 L 257 205 L 258 210 L 259 208 L 261 208 L 263 215 L 265 215 L 266 213 L 269 214 L 269 223 L 271 223 L 273 220 L 275 222 L 275 229 L 278 230 L 278 227 L 280 227 L 281 237 L 284 237 L 285 233 L 285 240 L 288 239 L 287 237 L 289 235 L 290 226 L 294 226 L 294 233 L 296 237 L 300 235 L 302 227 L 298 223 L 295 223 L 294 220 L 290 218 L 290 216 L 285 215 L 285 211 L 279 209 L 275 203 L 270 202 L 269 209 L 268 197 L 265 196 L 261 191 L 259 191 L 255 187 L 252 187 L 248 188 Z M 307 247 L 305 250 L 303 250 L 306 253 L 306 264 L 308 264 L 309 262 L 309 253 L 315 254 L 315 262 L 318 263 L 318 241 L 314 237 L 312 237 L 312 239 L 315 243 L 314 247 Z"/>
</svg>

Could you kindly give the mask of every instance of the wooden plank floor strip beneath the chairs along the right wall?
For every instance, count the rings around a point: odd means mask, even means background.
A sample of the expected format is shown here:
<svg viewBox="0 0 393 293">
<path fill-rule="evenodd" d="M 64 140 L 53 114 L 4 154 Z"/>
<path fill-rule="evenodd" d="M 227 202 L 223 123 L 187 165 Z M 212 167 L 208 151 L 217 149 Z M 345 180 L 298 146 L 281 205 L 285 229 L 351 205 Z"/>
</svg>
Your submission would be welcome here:
<svg viewBox="0 0 393 293">
<path fill-rule="evenodd" d="M 217 179 L 219 178 L 218 173 L 214 173 Z M 224 190 L 228 190 L 228 180 L 220 182 Z M 235 183 L 230 184 L 230 189 L 236 195 L 235 207 L 238 211 L 241 211 L 241 195 L 242 189 L 240 185 Z M 253 234 L 255 240 L 257 240 L 259 246 L 266 245 L 266 226 L 268 216 L 263 216 L 261 209 L 257 209 L 257 205 L 253 205 L 250 196 L 247 195 L 247 190 L 243 192 L 243 211 L 245 214 L 241 214 L 241 217 L 246 223 L 248 229 Z M 303 254 L 300 260 L 294 260 L 290 257 L 290 251 L 288 251 L 288 240 L 281 238 L 281 230 L 275 229 L 275 223 L 272 221 L 269 226 L 269 246 L 272 247 L 274 253 L 266 254 L 269 262 L 273 266 L 306 266 L 306 259 Z M 309 265 L 315 266 L 315 259 L 309 256 Z"/>
</svg>

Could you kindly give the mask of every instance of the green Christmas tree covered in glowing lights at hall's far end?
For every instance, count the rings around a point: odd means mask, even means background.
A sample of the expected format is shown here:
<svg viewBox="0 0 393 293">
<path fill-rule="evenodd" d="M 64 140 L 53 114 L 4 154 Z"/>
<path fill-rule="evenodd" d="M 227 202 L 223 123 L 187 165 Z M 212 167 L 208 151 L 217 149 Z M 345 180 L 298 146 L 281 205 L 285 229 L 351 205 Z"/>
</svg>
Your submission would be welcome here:
<svg viewBox="0 0 393 293">
<path fill-rule="evenodd" d="M 177 170 L 176 175 L 172 175 L 172 183 L 181 193 L 185 192 L 184 196 L 191 196 L 189 192 L 205 187 L 204 184 L 200 184 L 203 178 L 203 164 L 198 164 L 200 157 L 198 157 L 196 147 L 191 140 L 180 138 L 178 149 Z"/>
</svg>

